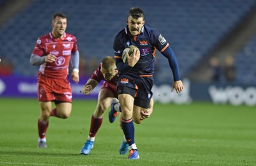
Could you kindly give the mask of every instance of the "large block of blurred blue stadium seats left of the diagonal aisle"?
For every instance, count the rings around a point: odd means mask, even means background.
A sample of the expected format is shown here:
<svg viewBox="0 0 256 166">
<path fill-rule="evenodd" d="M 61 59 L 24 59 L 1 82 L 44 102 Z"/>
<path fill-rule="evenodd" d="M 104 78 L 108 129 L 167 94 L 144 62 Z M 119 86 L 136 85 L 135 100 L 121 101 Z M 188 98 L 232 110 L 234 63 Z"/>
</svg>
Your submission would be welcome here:
<svg viewBox="0 0 256 166">
<path fill-rule="evenodd" d="M 145 21 L 170 43 L 186 77 L 198 61 L 251 9 L 255 0 L 225 1 L 51 1 L 35 0 L 0 28 L 0 56 L 12 60 L 18 75 L 36 75 L 38 67 L 29 57 L 38 36 L 51 31 L 51 16 L 63 11 L 68 17 L 67 33 L 77 37 L 84 59 L 113 56 L 113 40 L 125 27 L 132 6 L 145 11 Z M 157 52 L 157 82 L 172 79 L 166 59 Z M 166 72 L 167 70 L 167 72 Z M 163 72 L 164 71 L 164 72 Z"/>
</svg>

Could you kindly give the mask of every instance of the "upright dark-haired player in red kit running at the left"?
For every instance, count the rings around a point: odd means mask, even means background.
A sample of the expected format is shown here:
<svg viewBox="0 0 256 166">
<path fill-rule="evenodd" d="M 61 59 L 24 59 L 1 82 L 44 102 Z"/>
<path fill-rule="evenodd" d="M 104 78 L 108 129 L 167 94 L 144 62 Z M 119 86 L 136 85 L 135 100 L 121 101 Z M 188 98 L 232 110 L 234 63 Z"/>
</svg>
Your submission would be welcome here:
<svg viewBox="0 0 256 166">
<path fill-rule="evenodd" d="M 45 133 L 49 117 L 66 119 L 72 109 L 72 89 L 67 79 L 68 64 L 72 61 L 71 78 L 79 82 L 79 52 L 76 37 L 65 33 L 67 17 L 55 13 L 52 17 L 52 32 L 41 36 L 36 41 L 30 57 L 32 65 L 40 66 L 38 72 L 38 101 L 40 117 L 38 119 L 38 147 L 47 147 Z M 56 108 L 52 109 L 52 102 Z"/>
</svg>

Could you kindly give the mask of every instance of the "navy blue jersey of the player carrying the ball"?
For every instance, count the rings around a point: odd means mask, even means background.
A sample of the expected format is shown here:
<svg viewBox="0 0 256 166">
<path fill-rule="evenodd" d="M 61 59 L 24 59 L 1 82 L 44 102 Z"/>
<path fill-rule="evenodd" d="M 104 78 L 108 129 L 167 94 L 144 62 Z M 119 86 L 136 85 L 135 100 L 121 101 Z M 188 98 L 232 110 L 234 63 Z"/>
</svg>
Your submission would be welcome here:
<svg viewBox="0 0 256 166">
<path fill-rule="evenodd" d="M 116 66 L 120 75 L 140 75 L 150 77 L 154 74 L 154 62 L 156 49 L 163 52 L 169 43 L 155 29 L 143 26 L 138 36 L 131 36 L 128 27 L 120 31 L 114 41 Z M 122 52 L 129 45 L 134 45 L 140 50 L 140 59 L 133 68 L 122 61 Z"/>
</svg>

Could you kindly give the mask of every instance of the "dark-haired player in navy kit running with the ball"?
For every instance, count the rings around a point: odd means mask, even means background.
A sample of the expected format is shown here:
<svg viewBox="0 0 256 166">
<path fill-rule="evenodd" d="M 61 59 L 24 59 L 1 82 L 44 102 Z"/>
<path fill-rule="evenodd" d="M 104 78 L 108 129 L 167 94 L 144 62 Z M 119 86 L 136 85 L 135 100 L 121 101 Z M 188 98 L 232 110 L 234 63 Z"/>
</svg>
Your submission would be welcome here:
<svg viewBox="0 0 256 166">
<path fill-rule="evenodd" d="M 118 100 L 122 109 L 122 130 L 129 144 L 129 159 L 138 159 L 138 149 L 134 140 L 132 114 L 147 111 L 152 98 L 153 74 L 156 49 L 163 54 L 173 74 L 172 91 L 183 90 L 179 76 L 179 66 L 175 54 L 162 34 L 145 26 L 144 12 L 140 8 L 131 8 L 127 26 L 115 36 L 113 49 L 118 68 Z M 122 61 L 122 52 L 129 45 L 138 47 L 132 56 L 127 54 L 127 63 Z M 122 146 L 125 144 L 122 144 Z"/>
</svg>

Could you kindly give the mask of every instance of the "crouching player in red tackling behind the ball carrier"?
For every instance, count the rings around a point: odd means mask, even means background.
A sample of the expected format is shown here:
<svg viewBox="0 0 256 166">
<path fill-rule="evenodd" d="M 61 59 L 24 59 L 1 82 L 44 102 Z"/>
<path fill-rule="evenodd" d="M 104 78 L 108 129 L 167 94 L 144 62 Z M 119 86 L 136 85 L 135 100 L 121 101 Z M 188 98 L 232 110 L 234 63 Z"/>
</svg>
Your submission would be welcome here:
<svg viewBox="0 0 256 166">
<path fill-rule="evenodd" d="M 102 63 L 100 63 L 97 70 L 95 70 L 95 72 L 92 73 L 92 76 L 83 87 L 83 93 L 89 95 L 92 92 L 92 90 L 97 86 L 97 84 L 99 84 L 101 80 L 104 80 L 103 85 L 99 91 L 97 107 L 92 114 L 88 138 L 86 139 L 86 142 L 84 143 L 84 146 L 80 151 L 81 155 L 88 155 L 90 153 L 90 150 L 93 148 L 95 136 L 102 124 L 104 113 L 110 107 L 111 103 L 115 103 L 116 105 L 115 110 L 114 108 L 111 108 L 111 110 L 115 111 L 115 117 L 113 117 L 114 120 L 116 118 L 117 112 L 121 112 L 118 100 L 116 99 L 117 79 L 118 70 L 116 68 L 115 59 L 114 57 L 107 56 L 104 57 L 104 59 L 102 59 Z M 138 112 L 139 114 L 134 114 L 134 119 L 136 119 L 136 121 L 134 121 L 135 123 L 141 123 L 143 119 L 150 116 L 153 109 L 153 100 L 151 103 L 152 105 L 150 105 L 150 108 L 148 109 L 147 113 L 142 112 L 142 114 L 140 114 L 140 112 Z M 119 125 L 120 124 L 121 123 L 119 123 Z M 124 147 L 122 150 L 128 151 L 128 146 Z"/>
</svg>

